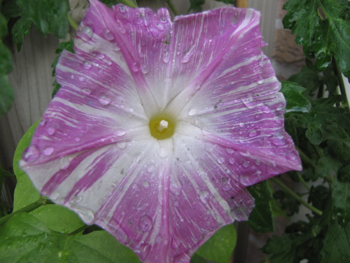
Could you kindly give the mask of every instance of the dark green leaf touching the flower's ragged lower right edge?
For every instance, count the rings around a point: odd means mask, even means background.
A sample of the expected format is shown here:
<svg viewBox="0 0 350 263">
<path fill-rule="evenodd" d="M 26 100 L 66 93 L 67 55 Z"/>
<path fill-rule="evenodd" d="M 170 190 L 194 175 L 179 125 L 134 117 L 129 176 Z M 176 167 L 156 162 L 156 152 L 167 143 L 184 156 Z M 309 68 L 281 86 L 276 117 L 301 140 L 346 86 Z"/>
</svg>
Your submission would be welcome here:
<svg viewBox="0 0 350 263">
<path fill-rule="evenodd" d="M 247 220 L 248 225 L 258 233 L 273 232 L 273 215 L 270 201 L 271 189 L 267 181 L 247 187 L 249 193 L 255 200 L 255 207 Z"/>
</svg>

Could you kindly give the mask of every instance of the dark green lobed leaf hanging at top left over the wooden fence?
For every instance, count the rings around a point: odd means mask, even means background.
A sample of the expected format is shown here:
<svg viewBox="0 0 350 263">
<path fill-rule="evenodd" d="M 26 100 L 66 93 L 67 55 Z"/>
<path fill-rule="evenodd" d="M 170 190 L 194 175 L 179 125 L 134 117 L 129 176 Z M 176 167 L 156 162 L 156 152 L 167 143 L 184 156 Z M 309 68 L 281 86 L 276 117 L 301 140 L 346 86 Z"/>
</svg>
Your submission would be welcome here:
<svg viewBox="0 0 350 263">
<path fill-rule="evenodd" d="M 68 0 L 17 0 L 22 16 L 31 20 L 36 29 L 46 36 L 65 38 L 68 32 Z"/>
</svg>

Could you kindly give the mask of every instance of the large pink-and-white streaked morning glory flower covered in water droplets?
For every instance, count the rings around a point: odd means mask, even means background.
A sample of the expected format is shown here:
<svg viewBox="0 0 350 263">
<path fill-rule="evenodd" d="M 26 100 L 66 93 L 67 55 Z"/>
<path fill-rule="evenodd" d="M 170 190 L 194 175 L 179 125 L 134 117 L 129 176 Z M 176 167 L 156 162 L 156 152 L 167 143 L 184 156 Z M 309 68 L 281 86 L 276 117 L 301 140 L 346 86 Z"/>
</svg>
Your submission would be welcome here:
<svg viewBox="0 0 350 263">
<path fill-rule="evenodd" d="M 189 262 L 247 219 L 245 186 L 301 168 L 263 45 L 251 9 L 171 22 L 166 9 L 90 0 L 21 168 L 143 262 Z"/>
</svg>

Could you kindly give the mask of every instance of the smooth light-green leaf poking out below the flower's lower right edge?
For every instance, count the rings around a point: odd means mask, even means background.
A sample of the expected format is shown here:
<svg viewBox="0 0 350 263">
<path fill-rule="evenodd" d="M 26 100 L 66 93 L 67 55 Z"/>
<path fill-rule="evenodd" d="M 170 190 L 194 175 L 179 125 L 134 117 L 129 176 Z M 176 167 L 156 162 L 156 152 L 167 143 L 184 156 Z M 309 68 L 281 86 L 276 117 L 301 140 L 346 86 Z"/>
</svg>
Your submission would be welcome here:
<svg viewBox="0 0 350 263">
<path fill-rule="evenodd" d="M 237 233 L 233 224 L 218 229 L 204 244 L 202 244 L 191 258 L 191 263 L 214 261 L 227 263 L 236 244 Z"/>
</svg>

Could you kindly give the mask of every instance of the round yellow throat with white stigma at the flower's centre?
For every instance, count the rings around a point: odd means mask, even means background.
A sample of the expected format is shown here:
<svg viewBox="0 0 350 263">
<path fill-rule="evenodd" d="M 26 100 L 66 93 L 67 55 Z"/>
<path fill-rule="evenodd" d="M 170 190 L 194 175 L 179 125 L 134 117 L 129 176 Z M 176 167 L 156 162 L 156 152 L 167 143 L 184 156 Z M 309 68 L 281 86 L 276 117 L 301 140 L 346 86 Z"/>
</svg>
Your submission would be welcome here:
<svg viewBox="0 0 350 263">
<path fill-rule="evenodd" d="M 150 134 L 157 140 L 170 138 L 174 134 L 175 121 L 167 115 L 156 115 L 149 120 Z"/>
</svg>

